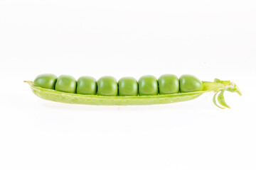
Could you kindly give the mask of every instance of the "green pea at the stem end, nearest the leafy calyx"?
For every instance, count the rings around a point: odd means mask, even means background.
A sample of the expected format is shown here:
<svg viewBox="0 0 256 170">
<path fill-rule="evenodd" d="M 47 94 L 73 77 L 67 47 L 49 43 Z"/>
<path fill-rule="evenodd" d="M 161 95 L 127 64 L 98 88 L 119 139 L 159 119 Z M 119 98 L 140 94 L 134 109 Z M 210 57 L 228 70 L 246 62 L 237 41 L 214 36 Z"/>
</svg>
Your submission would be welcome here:
<svg viewBox="0 0 256 170">
<path fill-rule="evenodd" d="M 203 84 L 200 79 L 190 74 L 184 74 L 179 78 L 181 93 L 201 91 Z"/>
</svg>

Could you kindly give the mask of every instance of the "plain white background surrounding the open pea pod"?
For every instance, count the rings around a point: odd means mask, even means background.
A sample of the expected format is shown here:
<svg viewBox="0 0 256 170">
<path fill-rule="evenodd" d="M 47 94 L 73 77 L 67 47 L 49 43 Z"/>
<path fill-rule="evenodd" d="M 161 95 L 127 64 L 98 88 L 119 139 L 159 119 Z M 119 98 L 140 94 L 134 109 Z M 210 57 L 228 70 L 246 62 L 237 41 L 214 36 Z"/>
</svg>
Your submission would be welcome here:
<svg viewBox="0 0 256 170">
<path fill-rule="evenodd" d="M 256 169 L 254 0 L 0 1 L 0 169 Z M 162 106 L 44 101 L 42 73 L 194 74 L 243 92 Z"/>
</svg>

